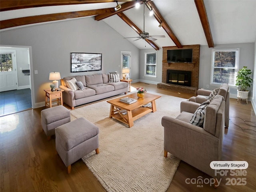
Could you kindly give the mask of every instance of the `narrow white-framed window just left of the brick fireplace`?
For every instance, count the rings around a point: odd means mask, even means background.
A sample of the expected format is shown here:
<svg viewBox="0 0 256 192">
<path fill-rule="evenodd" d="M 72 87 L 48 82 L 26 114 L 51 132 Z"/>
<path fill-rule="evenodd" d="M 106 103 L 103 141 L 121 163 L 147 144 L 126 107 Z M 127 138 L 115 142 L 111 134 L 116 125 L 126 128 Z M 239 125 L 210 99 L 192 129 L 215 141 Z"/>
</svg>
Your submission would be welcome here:
<svg viewBox="0 0 256 192">
<path fill-rule="evenodd" d="M 145 75 L 156 77 L 156 52 L 145 53 Z"/>
</svg>

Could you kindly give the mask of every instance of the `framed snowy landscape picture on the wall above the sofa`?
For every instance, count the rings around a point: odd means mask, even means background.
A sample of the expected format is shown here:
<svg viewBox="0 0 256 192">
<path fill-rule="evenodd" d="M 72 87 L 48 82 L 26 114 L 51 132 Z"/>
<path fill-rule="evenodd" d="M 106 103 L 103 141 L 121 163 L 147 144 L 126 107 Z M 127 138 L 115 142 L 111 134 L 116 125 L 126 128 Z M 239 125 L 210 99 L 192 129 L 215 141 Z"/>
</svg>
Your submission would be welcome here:
<svg viewBox="0 0 256 192">
<path fill-rule="evenodd" d="M 99 71 L 101 70 L 101 53 L 70 53 L 71 72 Z"/>
</svg>

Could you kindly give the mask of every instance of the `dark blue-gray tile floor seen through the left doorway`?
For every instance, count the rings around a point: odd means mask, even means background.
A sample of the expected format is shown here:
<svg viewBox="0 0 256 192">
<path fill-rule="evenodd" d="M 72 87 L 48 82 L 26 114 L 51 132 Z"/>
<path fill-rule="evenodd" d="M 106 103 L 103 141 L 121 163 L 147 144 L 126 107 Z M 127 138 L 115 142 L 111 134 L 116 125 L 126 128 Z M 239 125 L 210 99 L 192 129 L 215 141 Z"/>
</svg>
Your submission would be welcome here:
<svg viewBox="0 0 256 192">
<path fill-rule="evenodd" d="M 0 92 L 0 116 L 32 108 L 30 88 Z"/>
</svg>

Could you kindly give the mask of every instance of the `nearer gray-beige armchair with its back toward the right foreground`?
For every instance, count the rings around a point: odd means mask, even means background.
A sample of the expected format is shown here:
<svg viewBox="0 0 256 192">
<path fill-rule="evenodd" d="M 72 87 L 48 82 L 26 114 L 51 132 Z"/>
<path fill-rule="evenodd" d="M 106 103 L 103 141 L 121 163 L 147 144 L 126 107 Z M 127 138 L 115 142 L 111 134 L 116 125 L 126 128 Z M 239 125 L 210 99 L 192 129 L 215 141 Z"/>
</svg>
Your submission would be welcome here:
<svg viewBox="0 0 256 192">
<path fill-rule="evenodd" d="M 221 160 L 224 98 L 216 95 L 206 106 L 202 127 L 190 124 L 190 119 L 198 108 L 195 102 L 181 102 L 180 108 L 182 112 L 178 117 L 162 117 L 164 156 L 167 157 L 170 152 L 213 178 L 218 178 L 210 168 L 210 162 Z"/>
</svg>

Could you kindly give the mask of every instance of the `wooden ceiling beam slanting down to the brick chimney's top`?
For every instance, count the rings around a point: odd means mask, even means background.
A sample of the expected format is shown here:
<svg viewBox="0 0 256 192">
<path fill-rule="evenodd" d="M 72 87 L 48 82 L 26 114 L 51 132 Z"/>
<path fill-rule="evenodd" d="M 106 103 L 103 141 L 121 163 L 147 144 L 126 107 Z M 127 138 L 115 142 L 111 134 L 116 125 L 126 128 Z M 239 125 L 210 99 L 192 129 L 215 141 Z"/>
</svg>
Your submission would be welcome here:
<svg viewBox="0 0 256 192">
<path fill-rule="evenodd" d="M 164 18 L 163 18 L 162 15 L 160 14 L 160 12 L 159 12 L 158 8 L 156 7 L 156 5 L 154 4 L 154 2 L 153 2 L 153 1 L 150 1 L 150 2 L 147 2 L 147 4 L 152 8 L 156 20 L 158 20 L 159 23 L 162 22 L 162 28 L 166 31 L 166 33 L 168 34 L 168 36 L 172 39 L 172 41 L 174 42 L 174 44 L 175 44 L 178 48 L 182 48 L 182 44 L 180 43 L 180 41 L 178 40 L 178 38 L 175 36 L 174 32 L 172 32 L 170 26 L 168 26 L 167 22 L 164 20 Z"/>
</svg>

